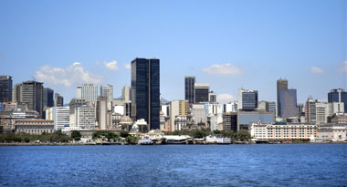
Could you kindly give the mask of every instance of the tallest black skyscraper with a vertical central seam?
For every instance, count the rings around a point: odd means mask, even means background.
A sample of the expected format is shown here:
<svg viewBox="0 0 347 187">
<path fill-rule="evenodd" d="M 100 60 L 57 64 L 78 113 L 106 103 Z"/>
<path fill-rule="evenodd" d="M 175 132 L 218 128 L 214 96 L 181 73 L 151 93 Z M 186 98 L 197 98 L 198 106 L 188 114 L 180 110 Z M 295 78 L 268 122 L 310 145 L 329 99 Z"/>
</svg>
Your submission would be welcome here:
<svg viewBox="0 0 347 187">
<path fill-rule="evenodd" d="M 160 60 L 131 61 L 131 118 L 145 119 L 150 130 L 160 129 Z"/>
</svg>

